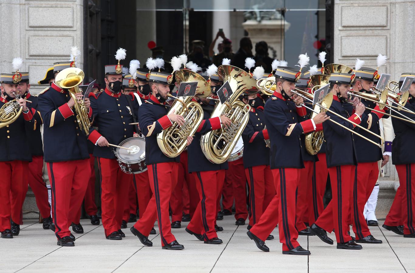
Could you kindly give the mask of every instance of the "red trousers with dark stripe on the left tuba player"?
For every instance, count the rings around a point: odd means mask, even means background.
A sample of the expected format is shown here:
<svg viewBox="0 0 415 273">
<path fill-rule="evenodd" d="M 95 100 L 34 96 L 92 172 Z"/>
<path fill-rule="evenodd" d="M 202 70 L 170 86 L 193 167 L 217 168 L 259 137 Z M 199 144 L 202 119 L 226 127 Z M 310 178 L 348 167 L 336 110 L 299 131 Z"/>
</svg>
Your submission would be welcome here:
<svg viewBox="0 0 415 273">
<path fill-rule="evenodd" d="M 171 193 L 177 184 L 177 162 L 163 162 L 147 165 L 149 181 L 153 196 L 134 227 L 144 236 L 149 236 L 154 222 L 159 224 L 161 245 L 165 246 L 176 240 L 171 233 L 171 222 L 168 215 L 168 204 Z"/>
</svg>

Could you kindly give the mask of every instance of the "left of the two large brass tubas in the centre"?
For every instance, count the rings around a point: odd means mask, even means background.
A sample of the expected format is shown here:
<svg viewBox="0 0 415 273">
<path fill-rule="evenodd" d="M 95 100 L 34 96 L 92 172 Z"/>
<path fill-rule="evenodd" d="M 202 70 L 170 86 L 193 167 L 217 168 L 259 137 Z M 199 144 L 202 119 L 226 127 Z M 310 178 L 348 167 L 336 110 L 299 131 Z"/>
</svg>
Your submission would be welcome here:
<svg viewBox="0 0 415 273">
<path fill-rule="evenodd" d="M 209 83 L 198 73 L 188 69 L 176 71 L 176 81 L 178 84 L 182 82 L 198 82 L 196 88 L 197 97 L 210 96 Z M 173 97 L 171 94 L 169 97 Z M 177 157 L 183 152 L 187 145 L 187 137 L 193 136 L 203 121 L 203 109 L 197 101 L 193 100 L 193 96 L 180 97 L 173 101 L 167 115 L 177 114 L 183 116 L 185 123 L 179 126 L 173 123 L 172 126 L 157 134 L 157 144 L 160 150 L 168 157 Z"/>
</svg>

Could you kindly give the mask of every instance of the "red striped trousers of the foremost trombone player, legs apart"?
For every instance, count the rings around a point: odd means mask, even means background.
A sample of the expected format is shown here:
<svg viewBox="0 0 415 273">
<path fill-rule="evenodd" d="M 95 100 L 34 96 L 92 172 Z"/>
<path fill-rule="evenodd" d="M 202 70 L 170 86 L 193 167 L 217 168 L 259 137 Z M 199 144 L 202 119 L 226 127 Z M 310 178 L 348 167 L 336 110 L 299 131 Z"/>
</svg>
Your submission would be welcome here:
<svg viewBox="0 0 415 273">
<path fill-rule="evenodd" d="M 283 251 L 288 251 L 300 245 L 297 242 L 298 231 L 295 228 L 295 196 L 301 169 L 282 168 L 271 171 L 276 195 L 259 222 L 251 227 L 250 232 L 265 241 L 279 223 L 280 242 L 283 244 Z"/>
</svg>

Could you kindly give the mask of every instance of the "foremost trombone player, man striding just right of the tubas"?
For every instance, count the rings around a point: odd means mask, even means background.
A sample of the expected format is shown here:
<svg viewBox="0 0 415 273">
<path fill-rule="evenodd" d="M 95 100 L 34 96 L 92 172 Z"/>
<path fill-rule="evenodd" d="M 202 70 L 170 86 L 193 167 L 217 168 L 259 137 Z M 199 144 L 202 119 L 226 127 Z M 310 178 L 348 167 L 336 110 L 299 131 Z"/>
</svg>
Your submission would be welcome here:
<svg viewBox="0 0 415 273">
<path fill-rule="evenodd" d="M 264 241 L 279 223 L 283 254 L 310 255 L 310 251 L 297 242 L 298 231 L 295 228 L 295 197 L 300 170 L 304 168 L 300 135 L 315 130 L 327 116 L 321 112 L 315 118 L 305 120 L 307 113 L 301 106 L 303 99 L 291 92 L 301 72 L 280 66 L 274 75 L 276 91 L 265 104 L 264 118 L 271 141 L 270 167 L 276 195 L 247 234 L 259 249 L 268 252 Z"/>
</svg>

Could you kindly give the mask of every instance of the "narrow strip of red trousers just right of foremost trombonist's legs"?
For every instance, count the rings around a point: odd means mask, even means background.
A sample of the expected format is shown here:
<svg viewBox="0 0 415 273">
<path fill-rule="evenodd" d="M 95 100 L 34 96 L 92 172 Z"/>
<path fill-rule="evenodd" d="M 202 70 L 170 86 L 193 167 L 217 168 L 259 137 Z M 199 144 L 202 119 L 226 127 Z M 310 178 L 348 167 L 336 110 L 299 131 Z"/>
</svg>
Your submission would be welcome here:
<svg viewBox="0 0 415 273">
<path fill-rule="evenodd" d="M 295 208 L 295 227 L 297 230 L 307 228 L 305 222 L 308 222 L 310 208 L 308 208 L 309 199 L 312 197 L 310 189 L 313 179 L 314 162 L 304 161 L 305 168 L 300 170 L 300 181 L 297 188 L 297 205 Z"/>
</svg>

